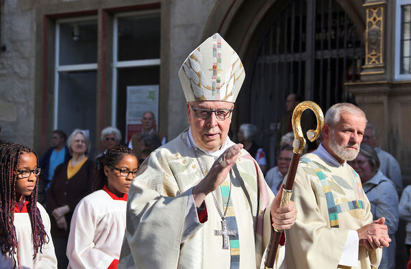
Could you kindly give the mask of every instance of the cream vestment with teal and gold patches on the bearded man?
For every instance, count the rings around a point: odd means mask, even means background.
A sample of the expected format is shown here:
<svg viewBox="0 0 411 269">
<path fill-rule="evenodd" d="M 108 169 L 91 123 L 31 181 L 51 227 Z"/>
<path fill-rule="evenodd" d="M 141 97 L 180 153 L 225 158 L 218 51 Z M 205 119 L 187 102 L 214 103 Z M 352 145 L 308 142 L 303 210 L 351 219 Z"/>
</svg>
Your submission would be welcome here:
<svg viewBox="0 0 411 269">
<path fill-rule="evenodd" d="M 303 155 L 291 199 L 297 207 L 297 220 L 287 233 L 280 268 L 349 268 L 338 264 L 348 230 L 373 221 L 369 200 L 353 168 L 349 164 L 334 166 L 312 153 Z M 366 251 L 359 246 L 356 268 L 377 268 L 381 256 L 380 248 Z"/>
</svg>

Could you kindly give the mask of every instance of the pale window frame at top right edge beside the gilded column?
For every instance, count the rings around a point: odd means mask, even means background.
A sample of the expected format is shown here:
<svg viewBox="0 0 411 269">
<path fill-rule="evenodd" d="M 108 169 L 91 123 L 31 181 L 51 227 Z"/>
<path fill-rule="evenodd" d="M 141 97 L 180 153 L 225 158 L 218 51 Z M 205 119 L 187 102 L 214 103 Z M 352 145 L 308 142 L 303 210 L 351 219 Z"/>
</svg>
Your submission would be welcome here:
<svg viewBox="0 0 411 269">
<path fill-rule="evenodd" d="M 404 81 L 411 80 L 411 74 L 401 74 L 401 8 L 403 5 L 411 5 L 411 0 L 397 0 L 397 7 L 395 10 L 395 25 L 400 27 L 395 27 L 395 66 L 394 66 L 394 77 L 395 80 Z"/>
</svg>

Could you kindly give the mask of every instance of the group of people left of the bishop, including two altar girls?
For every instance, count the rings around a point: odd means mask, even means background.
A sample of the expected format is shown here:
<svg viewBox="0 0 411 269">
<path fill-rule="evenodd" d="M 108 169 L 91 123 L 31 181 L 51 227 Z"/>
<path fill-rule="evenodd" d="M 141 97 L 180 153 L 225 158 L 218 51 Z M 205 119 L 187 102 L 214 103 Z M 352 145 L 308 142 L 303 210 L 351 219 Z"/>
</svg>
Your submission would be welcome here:
<svg viewBox="0 0 411 269">
<path fill-rule="evenodd" d="M 152 112 L 142 115 L 143 129 L 130 140 L 134 150 L 120 144 L 121 131 L 116 127 L 101 130 L 102 152 L 95 157 L 89 155 L 90 139 L 82 129 L 75 129 L 69 138 L 60 129 L 52 131 L 52 146 L 40 159 L 21 144 L 1 142 L 1 172 L 10 172 L 6 166 L 16 170 L 16 177 L 4 179 L 12 194 L 6 194 L 2 185 L 1 209 L 14 209 L 15 204 L 14 213 L 25 214 L 15 214 L 14 222 L 1 223 L 8 229 L 14 224 L 16 231 L 6 231 L 0 238 L 1 242 L 11 240 L 2 248 L 0 268 L 117 268 L 127 192 L 138 164 L 165 142 L 164 136 L 153 132 L 153 119 Z M 14 203 L 4 200 L 12 197 Z M 36 230 L 27 229 L 33 221 Z M 33 238 L 32 250 L 18 245 L 31 236 L 41 236 Z"/>
</svg>

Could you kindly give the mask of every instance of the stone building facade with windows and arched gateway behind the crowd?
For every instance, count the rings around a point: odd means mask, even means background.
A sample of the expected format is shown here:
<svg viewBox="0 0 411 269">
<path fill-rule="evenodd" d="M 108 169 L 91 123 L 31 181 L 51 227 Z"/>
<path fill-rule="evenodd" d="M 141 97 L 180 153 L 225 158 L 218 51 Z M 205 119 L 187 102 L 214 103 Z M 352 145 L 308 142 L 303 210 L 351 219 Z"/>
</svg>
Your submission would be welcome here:
<svg viewBox="0 0 411 269">
<path fill-rule="evenodd" d="M 316 101 L 323 110 L 338 101 L 355 101 L 377 127 L 382 149 L 399 160 L 408 184 L 411 77 L 408 69 L 398 69 L 409 60 L 403 49 L 408 37 L 401 37 L 408 2 L 0 0 L 0 45 L 5 47 L 0 51 L 0 138 L 41 154 L 53 129 L 69 133 L 79 125 L 90 130 L 98 153 L 101 129 L 116 125 L 125 132 L 122 100 L 128 84 L 159 85 L 158 130 L 174 138 L 188 125 L 177 71 L 193 48 L 218 31 L 238 51 L 246 71 L 234 136 L 240 124 L 256 124 L 261 130 L 257 140 L 273 164 L 273 136 L 288 93 Z M 85 43 L 77 48 L 84 49 L 89 62 L 68 47 L 75 44 L 78 31 L 80 40 L 84 32 L 93 36 L 94 47 Z M 137 52 L 132 51 L 121 36 L 124 31 L 135 40 L 141 35 L 148 45 L 137 42 Z M 74 41 L 64 41 L 67 34 Z M 149 59 L 137 55 L 147 47 L 158 51 Z M 136 59 L 128 61 L 133 53 Z M 283 69 L 288 70 L 285 75 Z"/>
</svg>

